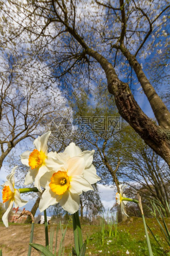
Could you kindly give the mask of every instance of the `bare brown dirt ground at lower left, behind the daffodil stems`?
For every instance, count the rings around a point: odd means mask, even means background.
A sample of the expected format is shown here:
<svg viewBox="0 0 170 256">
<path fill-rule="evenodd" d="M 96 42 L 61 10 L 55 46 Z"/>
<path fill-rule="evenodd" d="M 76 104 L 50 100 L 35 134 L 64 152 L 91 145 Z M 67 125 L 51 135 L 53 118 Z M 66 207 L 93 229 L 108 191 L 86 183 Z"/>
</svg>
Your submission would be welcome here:
<svg viewBox="0 0 170 256">
<path fill-rule="evenodd" d="M 98 227 L 97 227 L 98 229 Z M 28 244 L 30 241 L 31 224 L 18 224 L 9 225 L 9 228 L 5 228 L 3 224 L 0 224 L 0 249 L 2 249 L 3 256 L 27 256 Z M 85 240 L 87 234 L 90 235 L 96 231 L 95 226 L 83 226 L 83 239 Z M 48 226 L 48 236 L 50 240 L 50 225 Z M 56 229 L 54 231 L 53 247 L 55 247 Z M 45 232 L 44 225 L 34 225 L 34 237 L 33 243 L 41 244 L 45 246 Z M 60 243 L 60 231 L 57 239 L 57 248 Z M 74 246 L 74 235 L 72 227 L 68 227 L 64 239 L 64 246 L 69 248 L 70 251 Z M 54 253 L 54 251 L 53 251 Z M 68 255 L 64 254 L 64 255 Z M 32 248 L 31 256 L 39 256 L 34 248 Z"/>
</svg>

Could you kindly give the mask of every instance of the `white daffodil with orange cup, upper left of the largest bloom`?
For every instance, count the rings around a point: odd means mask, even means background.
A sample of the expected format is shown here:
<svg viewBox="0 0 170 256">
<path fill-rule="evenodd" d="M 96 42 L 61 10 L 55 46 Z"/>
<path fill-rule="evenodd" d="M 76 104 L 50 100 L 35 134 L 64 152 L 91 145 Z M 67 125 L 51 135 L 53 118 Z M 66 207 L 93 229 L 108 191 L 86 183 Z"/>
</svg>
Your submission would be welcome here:
<svg viewBox="0 0 170 256">
<path fill-rule="evenodd" d="M 34 182 L 34 186 L 37 187 L 40 192 L 42 192 L 40 178 L 46 172 L 52 170 L 51 166 L 53 166 L 53 164 L 55 164 L 56 167 L 63 165 L 62 162 L 56 159 L 57 153 L 47 152 L 47 140 L 50 134 L 51 132 L 47 132 L 42 136 L 38 136 L 38 138 L 34 140 L 35 149 L 32 152 L 25 151 L 21 154 L 21 162 L 30 167 L 25 177 L 25 185 Z M 54 158 L 55 162 L 53 163 Z"/>
</svg>

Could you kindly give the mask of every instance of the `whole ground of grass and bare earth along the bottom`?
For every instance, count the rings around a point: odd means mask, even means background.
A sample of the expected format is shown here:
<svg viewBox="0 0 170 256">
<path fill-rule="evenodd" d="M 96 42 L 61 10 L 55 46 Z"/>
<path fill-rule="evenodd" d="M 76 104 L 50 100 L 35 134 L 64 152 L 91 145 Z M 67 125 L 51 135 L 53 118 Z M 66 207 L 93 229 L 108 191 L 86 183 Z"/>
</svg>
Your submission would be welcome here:
<svg viewBox="0 0 170 256">
<path fill-rule="evenodd" d="M 170 225 L 170 219 L 165 220 L 167 225 Z M 169 250 L 165 239 L 159 229 L 156 219 L 146 218 L 146 222 L 152 232 L 156 234 L 163 249 Z M 65 225 L 64 225 L 65 228 Z M 123 223 L 118 224 L 117 236 L 109 237 L 107 225 L 103 237 L 103 245 L 101 244 L 101 227 L 94 225 L 82 225 L 83 239 L 87 241 L 86 255 L 148 255 L 147 242 L 143 228 L 142 218 L 129 218 Z M 9 228 L 0 223 L 0 248 L 3 256 L 25 256 L 28 251 L 28 242 L 30 235 L 29 224 L 14 224 L 11 223 Z M 50 237 L 50 227 L 49 227 Z M 60 234 L 59 234 L 60 237 Z M 150 241 L 154 255 L 164 255 L 160 250 L 159 245 L 149 232 Z M 54 237 L 55 239 L 55 237 Z M 35 225 L 34 228 L 34 243 L 45 245 L 44 225 Z M 74 237 L 72 226 L 67 227 L 65 237 L 65 253 L 69 255 L 72 246 L 74 245 Z M 38 256 L 37 251 L 32 249 L 32 256 Z M 168 255 L 168 254 L 167 254 Z"/>
</svg>

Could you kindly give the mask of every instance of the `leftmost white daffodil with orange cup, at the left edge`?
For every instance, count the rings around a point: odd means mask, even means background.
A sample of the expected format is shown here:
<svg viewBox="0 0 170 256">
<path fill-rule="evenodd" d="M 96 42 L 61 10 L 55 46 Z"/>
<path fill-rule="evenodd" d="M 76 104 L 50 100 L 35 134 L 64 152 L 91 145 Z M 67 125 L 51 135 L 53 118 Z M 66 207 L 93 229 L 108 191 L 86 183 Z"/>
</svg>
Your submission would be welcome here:
<svg viewBox="0 0 170 256">
<path fill-rule="evenodd" d="M 15 208 L 24 206 L 28 201 L 21 199 L 20 192 L 18 189 L 14 188 L 14 173 L 16 170 L 15 166 L 11 173 L 7 176 L 7 181 L 1 185 L 2 187 L 2 200 L 5 207 L 5 213 L 2 216 L 2 221 L 4 225 L 8 228 L 8 214 L 13 207 L 13 203 L 15 204 Z"/>
</svg>

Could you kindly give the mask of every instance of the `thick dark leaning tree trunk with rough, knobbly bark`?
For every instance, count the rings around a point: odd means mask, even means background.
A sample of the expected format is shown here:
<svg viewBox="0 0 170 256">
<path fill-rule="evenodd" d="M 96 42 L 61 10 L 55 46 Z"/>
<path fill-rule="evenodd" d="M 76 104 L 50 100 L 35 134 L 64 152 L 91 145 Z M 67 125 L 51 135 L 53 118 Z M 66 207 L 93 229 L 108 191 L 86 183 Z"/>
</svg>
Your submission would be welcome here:
<svg viewBox="0 0 170 256">
<path fill-rule="evenodd" d="M 165 129 L 157 126 L 140 109 L 129 85 L 119 80 L 112 64 L 107 59 L 90 48 L 87 49 L 87 53 L 94 57 L 104 69 L 108 80 L 108 90 L 115 97 L 119 114 L 170 167 L 170 140 Z"/>
</svg>

